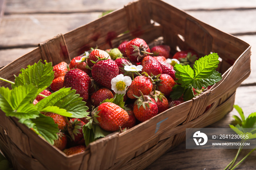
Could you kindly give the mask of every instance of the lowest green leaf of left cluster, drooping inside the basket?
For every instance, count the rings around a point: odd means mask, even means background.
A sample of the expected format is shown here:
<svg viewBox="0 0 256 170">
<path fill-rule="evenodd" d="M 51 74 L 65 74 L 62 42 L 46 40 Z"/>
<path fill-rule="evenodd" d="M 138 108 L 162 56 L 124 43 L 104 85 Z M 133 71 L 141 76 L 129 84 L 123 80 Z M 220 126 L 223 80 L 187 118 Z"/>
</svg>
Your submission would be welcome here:
<svg viewBox="0 0 256 170">
<path fill-rule="evenodd" d="M 52 117 L 39 114 L 36 119 L 20 119 L 20 123 L 25 124 L 29 128 L 33 128 L 36 134 L 42 136 L 47 142 L 53 145 L 57 139 L 59 132 L 58 125 L 54 123 Z"/>
</svg>

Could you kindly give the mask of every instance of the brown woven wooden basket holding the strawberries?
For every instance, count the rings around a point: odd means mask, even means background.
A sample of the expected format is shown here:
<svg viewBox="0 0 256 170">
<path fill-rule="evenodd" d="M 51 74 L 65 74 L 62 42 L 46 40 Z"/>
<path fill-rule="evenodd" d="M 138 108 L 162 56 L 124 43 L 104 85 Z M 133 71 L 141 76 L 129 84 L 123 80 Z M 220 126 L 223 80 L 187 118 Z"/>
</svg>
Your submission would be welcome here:
<svg viewBox="0 0 256 170">
<path fill-rule="evenodd" d="M 124 33 L 125 32 L 125 33 Z M 123 133 L 90 143 L 83 154 L 66 156 L 13 117 L 0 112 L 1 151 L 15 169 L 143 169 L 185 139 L 186 128 L 206 127 L 233 109 L 236 88 L 250 74 L 251 46 L 219 31 L 161 0 L 139 0 L 102 18 L 39 44 L 30 53 L 0 70 L 14 81 L 21 67 L 43 61 L 67 63 L 90 47 L 117 47 L 121 40 L 163 37 L 172 53 L 193 49 L 202 55 L 218 53 L 223 79 L 211 89 L 170 108 Z M 8 86 L 0 82 L 0 86 Z M 204 112 L 208 105 L 211 108 Z"/>
</svg>

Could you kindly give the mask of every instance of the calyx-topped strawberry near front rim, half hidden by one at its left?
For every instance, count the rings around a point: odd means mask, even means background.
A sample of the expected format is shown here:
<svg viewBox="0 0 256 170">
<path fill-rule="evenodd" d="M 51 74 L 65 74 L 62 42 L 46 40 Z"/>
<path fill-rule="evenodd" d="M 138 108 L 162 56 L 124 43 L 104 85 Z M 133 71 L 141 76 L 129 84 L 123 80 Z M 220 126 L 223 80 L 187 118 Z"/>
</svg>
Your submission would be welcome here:
<svg viewBox="0 0 256 170">
<path fill-rule="evenodd" d="M 160 91 L 154 89 L 149 96 L 157 103 L 158 113 L 162 113 L 163 111 L 169 109 L 169 101 Z"/>
</svg>

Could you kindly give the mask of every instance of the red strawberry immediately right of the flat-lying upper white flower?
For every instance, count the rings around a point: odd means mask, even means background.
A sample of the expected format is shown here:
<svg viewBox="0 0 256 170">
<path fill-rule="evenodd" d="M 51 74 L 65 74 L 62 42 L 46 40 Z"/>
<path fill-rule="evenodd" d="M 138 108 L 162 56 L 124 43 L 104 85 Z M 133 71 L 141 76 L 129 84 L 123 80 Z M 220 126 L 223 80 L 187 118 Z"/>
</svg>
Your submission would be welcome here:
<svg viewBox="0 0 256 170">
<path fill-rule="evenodd" d="M 162 67 L 153 57 L 147 56 L 142 60 L 142 72 L 146 72 L 148 75 L 158 75 L 162 74 Z"/>
</svg>

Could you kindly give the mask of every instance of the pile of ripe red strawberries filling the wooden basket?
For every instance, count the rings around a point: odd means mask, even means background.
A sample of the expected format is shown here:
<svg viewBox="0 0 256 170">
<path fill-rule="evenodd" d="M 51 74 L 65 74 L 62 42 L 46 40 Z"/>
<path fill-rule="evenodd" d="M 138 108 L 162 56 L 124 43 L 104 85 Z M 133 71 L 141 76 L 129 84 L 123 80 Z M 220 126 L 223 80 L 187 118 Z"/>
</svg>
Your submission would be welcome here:
<svg viewBox="0 0 256 170">
<path fill-rule="evenodd" d="M 187 61 L 189 52 L 181 51 L 174 56 L 181 62 Z M 91 116 L 71 119 L 46 113 L 60 129 L 54 146 L 67 155 L 82 152 L 86 148 L 82 126 L 91 123 L 90 120 L 95 120 L 93 123 L 105 131 L 126 130 L 182 103 L 182 98 L 177 101 L 169 98 L 176 84 L 173 65 L 166 62 L 169 58 L 169 46 L 157 45 L 150 50 L 143 39 L 135 38 L 122 42 L 118 48 L 92 49 L 84 56 L 73 58 L 69 64 L 60 62 L 55 65 L 54 80 L 42 94 L 49 96 L 64 86 L 71 87 L 86 101 Z M 117 77 L 119 81 L 115 79 Z M 124 107 L 111 102 L 101 103 L 120 92 Z M 38 96 L 34 104 L 41 99 Z"/>
</svg>

